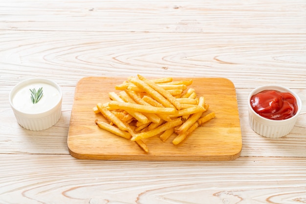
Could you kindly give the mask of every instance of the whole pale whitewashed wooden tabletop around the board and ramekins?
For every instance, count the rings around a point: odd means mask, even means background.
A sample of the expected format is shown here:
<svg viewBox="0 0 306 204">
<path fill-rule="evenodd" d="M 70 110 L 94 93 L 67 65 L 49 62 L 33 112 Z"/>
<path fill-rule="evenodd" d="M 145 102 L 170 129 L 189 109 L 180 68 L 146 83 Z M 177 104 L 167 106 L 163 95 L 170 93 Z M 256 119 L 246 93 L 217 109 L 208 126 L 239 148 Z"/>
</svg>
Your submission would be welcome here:
<svg viewBox="0 0 306 204">
<path fill-rule="evenodd" d="M 67 133 L 88 76 L 224 77 L 237 92 L 242 151 L 226 162 L 78 160 Z M 63 89 L 62 117 L 28 131 L 8 102 L 32 77 Z M 291 133 L 249 126 L 247 97 L 281 84 L 302 99 Z M 224 93 L 226 94 L 226 93 Z M 306 203 L 305 0 L 0 0 L 1 204 Z"/>
</svg>

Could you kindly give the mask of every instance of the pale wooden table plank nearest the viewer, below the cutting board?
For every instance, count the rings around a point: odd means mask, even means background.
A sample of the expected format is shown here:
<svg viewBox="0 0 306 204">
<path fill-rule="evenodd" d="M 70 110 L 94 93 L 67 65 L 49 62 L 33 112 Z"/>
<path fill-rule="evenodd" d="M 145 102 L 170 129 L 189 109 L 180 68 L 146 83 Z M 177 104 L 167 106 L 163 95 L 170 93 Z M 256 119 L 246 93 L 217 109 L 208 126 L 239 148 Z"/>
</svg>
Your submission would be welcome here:
<svg viewBox="0 0 306 204">
<path fill-rule="evenodd" d="M 216 163 L 0 155 L 0 161 L 1 203 L 298 204 L 306 190 L 305 158 Z"/>
</svg>

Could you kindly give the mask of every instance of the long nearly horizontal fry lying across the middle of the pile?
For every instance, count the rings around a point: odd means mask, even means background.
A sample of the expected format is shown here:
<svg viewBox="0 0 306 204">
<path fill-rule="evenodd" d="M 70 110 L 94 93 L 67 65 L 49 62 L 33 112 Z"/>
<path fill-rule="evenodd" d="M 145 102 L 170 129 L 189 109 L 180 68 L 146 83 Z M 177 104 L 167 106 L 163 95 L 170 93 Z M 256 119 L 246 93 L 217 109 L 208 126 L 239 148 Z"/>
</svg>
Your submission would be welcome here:
<svg viewBox="0 0 306 204">
<path fill-rule="evenodd" d="M 175 108 L 161 108 L 161 107 L 154 107 L 154 106 L 147 106 L 147 105 L 140 105 L 131 102 L 116 102 L 110 101 L 109 107 L 114 109 L 124 109 L 130 111 L 139 111 L 141 113 L 155 113 L 155 114 L 176 114 L 177 110 Z M 143 122 L 147 123 L 147 122 Z"/>
</svg>

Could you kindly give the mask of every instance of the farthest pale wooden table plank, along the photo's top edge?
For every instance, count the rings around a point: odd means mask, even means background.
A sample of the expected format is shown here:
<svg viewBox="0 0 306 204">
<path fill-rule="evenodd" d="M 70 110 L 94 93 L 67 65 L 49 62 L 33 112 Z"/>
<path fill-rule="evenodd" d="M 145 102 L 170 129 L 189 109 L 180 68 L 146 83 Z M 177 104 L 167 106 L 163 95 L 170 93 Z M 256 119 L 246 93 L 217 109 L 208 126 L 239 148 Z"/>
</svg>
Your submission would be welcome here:
<svg viewBox="0 0 306 204">
<path fill-rule="evenodd" d="M 5 30 L 306 33 L 304 0 L 2 0 L 0 13 Z"/>
</svg>

